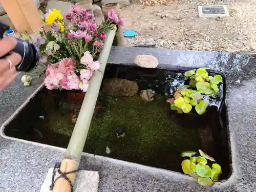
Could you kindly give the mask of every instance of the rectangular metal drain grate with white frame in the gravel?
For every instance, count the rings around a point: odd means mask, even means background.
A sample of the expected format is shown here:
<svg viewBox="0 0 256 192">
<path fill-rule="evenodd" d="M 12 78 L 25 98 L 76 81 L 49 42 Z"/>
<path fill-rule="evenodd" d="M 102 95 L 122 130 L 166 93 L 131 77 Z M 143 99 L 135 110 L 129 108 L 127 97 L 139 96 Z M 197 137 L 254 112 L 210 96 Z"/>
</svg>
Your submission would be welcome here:
<svg viewBox="0 0 256 192">
<path fill-rule="evenodd" d="M 227 7 L 225 5 L 198 6 L 198 13 L 200 17 L 229 16 Z"/>
</svg>

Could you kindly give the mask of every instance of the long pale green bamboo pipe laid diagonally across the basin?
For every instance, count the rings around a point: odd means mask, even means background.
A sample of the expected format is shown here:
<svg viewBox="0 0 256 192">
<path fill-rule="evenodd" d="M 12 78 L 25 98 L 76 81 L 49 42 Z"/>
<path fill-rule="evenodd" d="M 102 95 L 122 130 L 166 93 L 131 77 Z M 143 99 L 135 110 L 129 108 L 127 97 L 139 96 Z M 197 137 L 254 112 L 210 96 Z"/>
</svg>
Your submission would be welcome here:
<svg viewBox="0 0 256 192">
<path fill-rule="evenodd" d="M 101 81 L 108 61 L 113 39 L 116 34 L 116 26 L 106 36 L 104 47 L 99 55 L 98 61 L 101 63 L 100 69 L 96 71 L 90 81 L 86 96 L 83 99 L 82 106 L 69 141 L 66 157 L 61 161 L 60 171 L 62 173 L 76 170 L 80 163 L 84 144 L 93 117 L 95 104 L 98 98 Z M 68 174 L 67 177 L 74 184 L 76 173 Z M 60 178 L 56 181 L 53 192 L 71 192 L 69 182 Z"/>
</svg>

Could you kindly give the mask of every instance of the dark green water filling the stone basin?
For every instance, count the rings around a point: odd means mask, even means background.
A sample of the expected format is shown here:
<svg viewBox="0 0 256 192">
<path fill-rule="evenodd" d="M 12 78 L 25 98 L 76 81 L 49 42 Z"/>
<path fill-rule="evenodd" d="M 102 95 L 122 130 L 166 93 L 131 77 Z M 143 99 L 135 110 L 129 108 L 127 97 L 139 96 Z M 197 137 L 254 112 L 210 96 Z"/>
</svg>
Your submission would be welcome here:
<svg viewBox="0 0 256 192">
<path fill-rule="evenodd" d="M 200 136 L 204 127 L 187 129 L 170 118 L 165 102 L 170 89 L 166 70 L 109 67 L 104 77 L 134 80 L 140 90 L 153 89 L 157 94 L 153 101 L 144 102 L 139 95 L 115 97 L 100 92 L 84 152 L 181 172 L 181 152 L 205 148 Z M 81 103 L 67 98 L 65 92 L 44 88 L 7 126 L 5 134 L 66 148 Z M 120 130 L 123 137 L 117 137 Z M 106 154 L 106 146 L 110 154 Z M 207 153 L 220 156 L 218 148 Z M 229 159 L 224 160 L 222 167 L 226 165 Z M 227 168 L 225 175 L 228 174 Z"/>
</svg>

